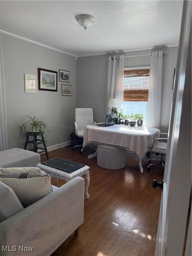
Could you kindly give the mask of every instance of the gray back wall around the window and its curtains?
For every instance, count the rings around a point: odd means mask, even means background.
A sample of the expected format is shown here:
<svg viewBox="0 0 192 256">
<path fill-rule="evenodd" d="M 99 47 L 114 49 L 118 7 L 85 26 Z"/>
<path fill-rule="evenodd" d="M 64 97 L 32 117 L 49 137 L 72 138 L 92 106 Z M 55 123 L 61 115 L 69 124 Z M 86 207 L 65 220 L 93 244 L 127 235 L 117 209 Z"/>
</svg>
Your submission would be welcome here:
<svg viewBox="0 0 192 256">
<path fill-rule="evenodd" d="M 163 56 L 163 79 L 160 129 L 167 131 L 173 99 L 173 72 L 177 62 L 178 47 L 127 52 L 125 56 L 165 51 Z M 105 119 L 107 107 L 108 57 L 119 54 L 80 57 L 77 59 L 77 107 L 92 107 L 95 122 Z M 150 56 L 125 58 L 125 67 L 150 66 Z"/>
</svg>

